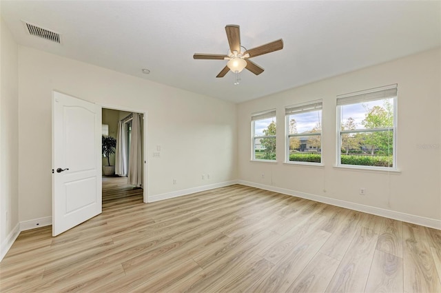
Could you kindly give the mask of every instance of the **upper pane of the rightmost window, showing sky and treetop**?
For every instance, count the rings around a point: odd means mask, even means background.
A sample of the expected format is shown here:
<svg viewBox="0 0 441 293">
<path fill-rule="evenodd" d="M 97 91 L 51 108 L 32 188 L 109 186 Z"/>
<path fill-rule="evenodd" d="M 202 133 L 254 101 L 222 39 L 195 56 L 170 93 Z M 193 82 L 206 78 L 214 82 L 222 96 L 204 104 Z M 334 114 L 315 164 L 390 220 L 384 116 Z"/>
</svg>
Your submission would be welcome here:
<svg viewBox="0 0 441 293">
<path fill-rule="evenodd" d="M 342 105 L 342 130 L 393 127 L 393 98 Z"/>
</svg>

